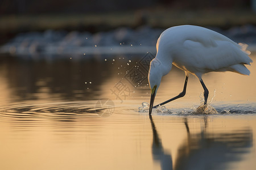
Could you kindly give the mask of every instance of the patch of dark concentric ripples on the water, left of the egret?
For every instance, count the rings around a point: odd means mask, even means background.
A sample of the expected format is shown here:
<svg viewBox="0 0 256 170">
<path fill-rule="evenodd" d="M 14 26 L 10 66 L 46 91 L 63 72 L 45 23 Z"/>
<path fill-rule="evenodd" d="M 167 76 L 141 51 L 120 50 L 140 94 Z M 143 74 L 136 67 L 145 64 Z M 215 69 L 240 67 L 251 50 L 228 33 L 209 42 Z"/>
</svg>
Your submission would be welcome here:
<svg viewBox="0 0 256 170">
<path fill-rule="evenodd" d="M 86 101 L 69 101 L 59 103 L 22 103 L 0 108 L 1 119 L 19 118 L 23 121 L 62 120 L 100 116 L 107 107 L 96 107 Z"/>
</svg>

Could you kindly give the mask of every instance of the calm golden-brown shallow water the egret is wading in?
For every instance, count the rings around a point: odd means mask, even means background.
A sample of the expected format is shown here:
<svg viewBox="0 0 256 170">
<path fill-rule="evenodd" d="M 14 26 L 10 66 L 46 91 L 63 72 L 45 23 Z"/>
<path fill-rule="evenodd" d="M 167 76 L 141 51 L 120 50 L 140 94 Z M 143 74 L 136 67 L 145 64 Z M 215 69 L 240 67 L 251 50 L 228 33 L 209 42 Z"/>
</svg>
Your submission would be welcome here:
<svg viewBox="0 0 256 170">
<path fill-rule="evenodd" d="M 203 88 L 190 76 L 183 98 L 148 117 L 138 109 L 150 100 L 142 57 L 2 57 L 0 169 L 255 169 L 255 63 L 250 76 L 203 76 L 217 114 L 193 114 Z M 173 68 L 155 104 L 184 78 Z"/>
</svg>

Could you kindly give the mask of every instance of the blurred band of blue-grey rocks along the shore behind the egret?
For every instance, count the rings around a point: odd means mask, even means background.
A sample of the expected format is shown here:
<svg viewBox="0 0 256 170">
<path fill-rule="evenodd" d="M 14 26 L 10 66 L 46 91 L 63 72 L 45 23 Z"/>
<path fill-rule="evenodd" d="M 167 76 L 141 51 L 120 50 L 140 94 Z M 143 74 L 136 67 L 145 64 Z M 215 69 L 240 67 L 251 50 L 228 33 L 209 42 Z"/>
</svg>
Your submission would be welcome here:
<svg viewBox="0 0 256 170">
<path fill-rule="evenodd" d="M 221 33 L 234 42 L 242 42 L 256 51 L 256 27 L 243 25 L 223 30 L 210 29 Z M 164 31 L 161 28 L 142 26 L 137 29 L 119 27 L 106 32 L 53 31 L 19 33 L 0 46 L 0 54 L 11 56 L 44 58 L 45 56 L 62 56 L 63 58 L 92 58 L 92 56 L 140 54 L 147 52 L 155 55 L 156 41 Z"/>
</svg>

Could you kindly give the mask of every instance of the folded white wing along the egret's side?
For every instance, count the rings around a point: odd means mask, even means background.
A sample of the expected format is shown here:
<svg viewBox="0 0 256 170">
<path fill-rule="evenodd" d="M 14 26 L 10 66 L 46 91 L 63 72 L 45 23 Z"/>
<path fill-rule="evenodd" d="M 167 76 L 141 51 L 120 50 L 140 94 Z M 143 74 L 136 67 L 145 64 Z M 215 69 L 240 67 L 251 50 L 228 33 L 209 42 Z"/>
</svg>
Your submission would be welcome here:
<svg viewBox="0 0 256 170">
<path fill-rule="evenodd" d="M 224 38 L 223 38 L 224 37 Z M 225 36 L 194 37 L 184 41 L 189 57 L 201 69 L 220 70 L 237 64 L 253 62 L 248 57 L 249 52 Z"/>
</svg>

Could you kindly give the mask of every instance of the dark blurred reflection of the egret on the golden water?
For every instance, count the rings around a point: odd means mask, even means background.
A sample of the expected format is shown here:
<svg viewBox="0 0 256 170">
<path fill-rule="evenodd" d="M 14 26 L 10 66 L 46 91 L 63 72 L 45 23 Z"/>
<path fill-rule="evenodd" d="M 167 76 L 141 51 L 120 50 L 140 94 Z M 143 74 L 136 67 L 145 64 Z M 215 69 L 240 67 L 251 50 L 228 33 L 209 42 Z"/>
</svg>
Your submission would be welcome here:
<svg viewBox="0 0 256 170">
<path fill-rule="evenodd" d="M 192 134 L 188 118 L 184 118 L 187 139 L 180 145 L 173 166 L 171 153 L 164 150 L 154 121 L 150 115 L 153 132 L 152 156 L 160 162 L 161 169 L 229 169 L 229 163 L 242 160 L 242 154 L 250 151 L 252 132 L 249 128 L 230 133 L 208 133 L 208 116 L 204 117 L 201 133 Z"/>
</svg>

